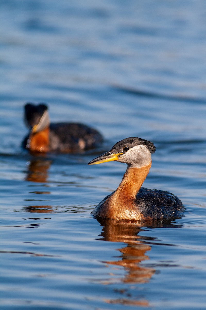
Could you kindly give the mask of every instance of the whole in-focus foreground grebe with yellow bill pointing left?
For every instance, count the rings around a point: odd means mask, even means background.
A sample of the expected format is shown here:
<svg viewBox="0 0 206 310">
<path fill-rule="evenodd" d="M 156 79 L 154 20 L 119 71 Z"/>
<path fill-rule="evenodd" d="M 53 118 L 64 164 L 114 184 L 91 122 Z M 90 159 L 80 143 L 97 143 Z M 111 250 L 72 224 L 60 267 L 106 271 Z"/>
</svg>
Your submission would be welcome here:
<svg viewBox="0 0 206 310">
<path fill-rule="evenodd" d="M 172 193 L 141 187 L 151 168 L 152 142 L 141 138 L 126 138 L 110 151 L 93 159 L 88 165 L 118 161 L 128 165 L 123 179 L 113 193 L 93 210 L 95 217 L 116 220 L 153 220 L 178 216 L 185 208 Z"/>
</svg>

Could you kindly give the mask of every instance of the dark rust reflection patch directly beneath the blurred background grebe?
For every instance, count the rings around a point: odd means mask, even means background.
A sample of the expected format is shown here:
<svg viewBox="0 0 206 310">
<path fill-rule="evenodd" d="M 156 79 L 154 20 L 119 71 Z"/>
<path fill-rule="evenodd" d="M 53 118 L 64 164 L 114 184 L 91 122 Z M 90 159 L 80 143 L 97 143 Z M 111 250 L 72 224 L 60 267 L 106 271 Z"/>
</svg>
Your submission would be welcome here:
<svg viewBox="0 0 206 310">
<path fill-rule="evenodd" d="M 45 159 L 32 159 L 28 162 L 26 180 L 31 182 L 47 182 L 48 170 L 52 161 Z"/>
</svg>

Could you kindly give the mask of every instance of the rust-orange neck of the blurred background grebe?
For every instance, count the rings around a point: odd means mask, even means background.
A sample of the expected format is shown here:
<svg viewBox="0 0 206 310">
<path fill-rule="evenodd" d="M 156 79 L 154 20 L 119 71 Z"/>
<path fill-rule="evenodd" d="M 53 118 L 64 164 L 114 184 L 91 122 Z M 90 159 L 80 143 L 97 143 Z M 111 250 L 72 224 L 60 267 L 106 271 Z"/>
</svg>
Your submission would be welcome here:
<svg viewBox="0 0 206 310">
<path fill-rule="evenodd" d="M 31 152 L 48 152 L 49 150 L 49 127 L 40 132 L 31 134 L 29 149 Z"/>
</svg>

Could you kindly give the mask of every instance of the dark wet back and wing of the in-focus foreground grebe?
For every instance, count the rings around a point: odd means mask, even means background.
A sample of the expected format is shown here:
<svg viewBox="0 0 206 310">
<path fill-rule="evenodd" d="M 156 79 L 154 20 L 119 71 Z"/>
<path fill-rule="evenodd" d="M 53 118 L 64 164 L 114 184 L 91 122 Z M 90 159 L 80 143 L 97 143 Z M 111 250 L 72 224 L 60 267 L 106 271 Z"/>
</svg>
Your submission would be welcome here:
<svg viewBox="0 0 206 310">
<path fill-rule="evenodd" d="M 136 201 L 141 213 L 153 219 L 175 217 L 185 210 L 182 201 L 177 196 L 158 189 L 141 187 Z"/>
</svg>

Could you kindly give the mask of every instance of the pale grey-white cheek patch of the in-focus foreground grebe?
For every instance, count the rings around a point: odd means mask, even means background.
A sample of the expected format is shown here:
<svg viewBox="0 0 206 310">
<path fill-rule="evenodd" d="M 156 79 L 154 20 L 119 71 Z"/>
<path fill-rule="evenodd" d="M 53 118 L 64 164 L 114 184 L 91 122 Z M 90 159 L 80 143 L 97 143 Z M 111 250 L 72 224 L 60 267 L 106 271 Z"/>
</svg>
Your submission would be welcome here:
<svg viewBox="0 0 206 310">
<path fill-rule="evenodd" d="M 145 145 L 140 144 L 130 148 L 125 154 L 120 156 L 118 161 L 130 164 L 133 168 L 141 168 L 149 165 L 151 153 Z"/>
</svg>

